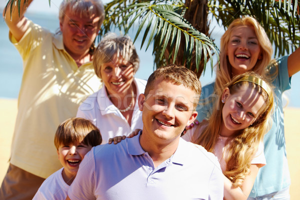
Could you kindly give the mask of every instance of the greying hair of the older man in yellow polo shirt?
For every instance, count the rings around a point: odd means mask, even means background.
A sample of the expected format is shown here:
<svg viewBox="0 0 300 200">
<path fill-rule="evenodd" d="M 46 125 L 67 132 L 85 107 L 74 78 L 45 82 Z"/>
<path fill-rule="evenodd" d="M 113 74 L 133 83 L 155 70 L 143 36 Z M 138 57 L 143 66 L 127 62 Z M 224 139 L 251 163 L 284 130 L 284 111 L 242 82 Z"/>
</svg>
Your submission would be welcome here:
<svg viewBox="0 0 300 200">
<path fill-rule="evenodd" d="M 62 0 L 59 6 L 59 21 L 64 19 L 64 13 L 67 8 L 76 13 L 78 16 L 91 16 L 96 14 L 99 16 L 99 27 L 101 26 L 105 11 L 101 0 Z"/>
</svg>

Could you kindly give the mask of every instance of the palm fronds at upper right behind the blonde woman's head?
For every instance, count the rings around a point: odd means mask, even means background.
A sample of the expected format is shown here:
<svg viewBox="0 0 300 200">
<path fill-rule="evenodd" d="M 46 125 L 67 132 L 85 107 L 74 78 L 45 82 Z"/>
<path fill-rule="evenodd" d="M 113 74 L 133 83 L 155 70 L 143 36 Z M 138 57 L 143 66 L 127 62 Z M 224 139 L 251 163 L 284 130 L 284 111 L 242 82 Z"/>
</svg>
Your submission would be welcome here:
<svg viewBox="0 0 300 200">
<path fill-rule="evenodd" d="M 275 56 L 289 54 L 300 44 L 297 0 L 210 0 L 208 4 L 213 17 L 225 28 L 242 15 L 256 18 L 273 43 Z"/>
</svg>

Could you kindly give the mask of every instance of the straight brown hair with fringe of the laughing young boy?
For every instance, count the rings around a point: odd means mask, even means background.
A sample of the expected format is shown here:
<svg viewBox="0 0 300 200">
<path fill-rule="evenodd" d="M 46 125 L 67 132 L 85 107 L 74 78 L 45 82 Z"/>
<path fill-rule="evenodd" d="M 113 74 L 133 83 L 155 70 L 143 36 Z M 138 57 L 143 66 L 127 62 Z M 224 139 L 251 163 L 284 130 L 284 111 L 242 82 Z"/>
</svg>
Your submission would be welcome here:
<svg viewBox="0 0 300 200">
<path fill-rule="evenodd" d="M 66 119 L 57 127 L 54 145 L 58 149 L 60 144 L 77 144 L 96 146 L 101 144 L 102 137 L 99 129 L 89 120 L 73 117 Z"/>
</svg>

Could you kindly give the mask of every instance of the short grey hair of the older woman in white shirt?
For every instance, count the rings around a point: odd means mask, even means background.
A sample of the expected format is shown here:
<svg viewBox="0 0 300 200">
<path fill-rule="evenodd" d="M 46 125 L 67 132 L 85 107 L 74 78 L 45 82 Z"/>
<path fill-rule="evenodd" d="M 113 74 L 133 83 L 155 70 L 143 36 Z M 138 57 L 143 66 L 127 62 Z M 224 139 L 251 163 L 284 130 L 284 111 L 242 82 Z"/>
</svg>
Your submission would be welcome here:
<svg viewBox="0 0 300 200">
<path fill-rule="evenodd" d="M 121 56 L 133 65 L 135 73 L 139 67 L 139 58 L 134 44 L 129 36 L 117 36 L 113 32 L 106 33 L 99 42 L 94 54 L 93 65 L 95 73 L 101 78 L 101 65 L 113 60 L 113 56 Z"/>
</svg>

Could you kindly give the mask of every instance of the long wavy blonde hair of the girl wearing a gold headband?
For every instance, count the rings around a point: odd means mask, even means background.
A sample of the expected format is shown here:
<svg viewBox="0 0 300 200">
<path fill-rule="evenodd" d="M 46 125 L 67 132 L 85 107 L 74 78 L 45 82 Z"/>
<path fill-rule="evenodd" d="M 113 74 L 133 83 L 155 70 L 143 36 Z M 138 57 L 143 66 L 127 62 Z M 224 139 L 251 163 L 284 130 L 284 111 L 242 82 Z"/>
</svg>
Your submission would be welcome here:
<svg viewBox="0 0 300 200">
<path fill-rule="evenodd" d="M 256 83 L 249 81 L 236 82 L 240 78 L 248 75 L 262 79 L 261 76 L 254 72 L 246 72 L 233 77 L 232 80 L 223 87 L 223 89 L 228 87 L 230 94 L 238 92 L 241 87 L 252 88 L 263 97 L 265 102 L 259 117 L 250 126 L 239 130 L 226 141 L 226 144 L 230 142 L 230 146 L 227 148 L 228 151 L 225 152 L 228 160 L 225 160 L 226 169 L 223 171 L 223 174 L 228 177 L 236 187 L 242 184 L 244 177 L 249 173 L 251 160 L 257 151 L 259 143 L 263 140 L 263 135 L 270 127 L 271 120 L 269 120 L 269 118 L 273 107 L 273 92 L 270 87 L 270 92 L 266 92 Z M 199 129 L 204 125 L 205 128 L 196 140 L 196 143 L 202 145 L 210 152 L 213 152 L 217 138 L 220 135 L 222 108 L 224 105 L 221 102 L 221 95 L 219 96 L 218 104 L 219 109 L 213 110 L 209 120 L 201 122 L 197 127 L 197 129 Z M 195 131 L 198 131 L 197 129 Z"/>
</svg>

